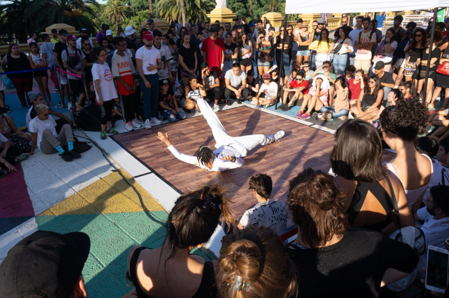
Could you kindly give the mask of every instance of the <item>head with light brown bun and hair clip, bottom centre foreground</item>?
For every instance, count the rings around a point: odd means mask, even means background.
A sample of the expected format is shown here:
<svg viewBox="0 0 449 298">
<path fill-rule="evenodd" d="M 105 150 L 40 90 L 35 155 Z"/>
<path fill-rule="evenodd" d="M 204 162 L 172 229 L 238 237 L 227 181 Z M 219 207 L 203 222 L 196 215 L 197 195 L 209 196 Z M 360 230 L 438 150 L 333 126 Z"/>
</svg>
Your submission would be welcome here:
<svg viewBox="0 0 449 298">
<path fill-rule="evenodd" d="M 219 298 L 296 296 L 293 263 L 269 228 L 246 226 L 223 237 L 215 276 Z"/>
</svg>

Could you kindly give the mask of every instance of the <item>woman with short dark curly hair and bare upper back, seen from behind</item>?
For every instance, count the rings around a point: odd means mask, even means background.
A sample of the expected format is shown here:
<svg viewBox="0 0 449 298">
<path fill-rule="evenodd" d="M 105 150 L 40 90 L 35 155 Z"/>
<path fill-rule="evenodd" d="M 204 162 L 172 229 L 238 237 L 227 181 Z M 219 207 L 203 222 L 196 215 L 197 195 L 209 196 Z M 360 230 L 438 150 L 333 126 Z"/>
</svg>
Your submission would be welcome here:
<svg viewBox="0 0 449 298">
<path fill-rule="evenodd" d="M 396 157 L 385 166 L 404 186 L 409 206 L 415 213 L 433 173 L 432 160 L 415 149 L 414 141 L 425 132 L 427 107 L 416 98 L 387 107 L 380 116 L 382 136 Z"/>
</svg>

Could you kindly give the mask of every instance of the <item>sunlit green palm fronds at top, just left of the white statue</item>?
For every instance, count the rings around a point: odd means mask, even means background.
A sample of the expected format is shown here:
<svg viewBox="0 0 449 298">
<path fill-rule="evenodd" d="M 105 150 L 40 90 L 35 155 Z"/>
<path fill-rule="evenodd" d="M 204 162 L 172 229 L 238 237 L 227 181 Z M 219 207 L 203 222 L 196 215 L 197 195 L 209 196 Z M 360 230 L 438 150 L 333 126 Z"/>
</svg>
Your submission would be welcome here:
<svg viewBox="0 0 449 298">
<path fill-rule="evenodd" d="M 160 0 L 158 1 L 158 10 L 161 11 L 161 18 L 171 22 L 175 19 L 183 19 L 185 23 L 186 15 L 192 19 L 207 19 L 207 13 L 214 9 L 216 2 L 214 0 Z M 185 5 L 185 11 L 181 9 L 181 5 Z M 184 12 L 184 15 L 183 15 Z"/>
</svg>

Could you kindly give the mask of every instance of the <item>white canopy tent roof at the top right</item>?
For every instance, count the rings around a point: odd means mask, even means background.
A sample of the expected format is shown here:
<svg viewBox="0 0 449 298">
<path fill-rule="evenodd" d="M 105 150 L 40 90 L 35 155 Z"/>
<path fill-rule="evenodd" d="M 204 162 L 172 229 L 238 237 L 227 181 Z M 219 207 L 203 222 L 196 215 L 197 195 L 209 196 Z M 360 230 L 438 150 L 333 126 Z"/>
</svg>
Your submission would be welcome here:
<svg viewBox="0 0 449 298">
<path fill-rule="evenodd" d="M 449 0 L 377 0 L 360 1 L 344 0 L 312 1 L 305 4 L 303 1 L 286 0 L 285 12 L 288 13 L 351 13 L 360 11 L 401 11 L 428 9 L 435 7 L 449 7 Z"/>
</svg>

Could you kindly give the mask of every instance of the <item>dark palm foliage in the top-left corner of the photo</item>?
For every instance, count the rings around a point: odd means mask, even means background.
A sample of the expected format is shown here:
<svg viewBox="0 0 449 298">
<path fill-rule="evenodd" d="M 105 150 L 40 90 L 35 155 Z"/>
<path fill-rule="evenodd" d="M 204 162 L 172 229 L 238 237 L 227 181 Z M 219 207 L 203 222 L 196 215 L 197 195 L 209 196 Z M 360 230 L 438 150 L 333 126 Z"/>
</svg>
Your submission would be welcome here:
<svg viewBox="0 0 449 298">
<path fill-rule="evenodd" d="M 11 0 L 0 5 L 0 33 L 7 34 L 9 41 L 15 34 L 15 38 L 23 43 L 29 30 L 38 32 L 38 28 L 31 26 L 33 20 L 26 15 L 29 5 L 30 0 Z"/>
</svg>

